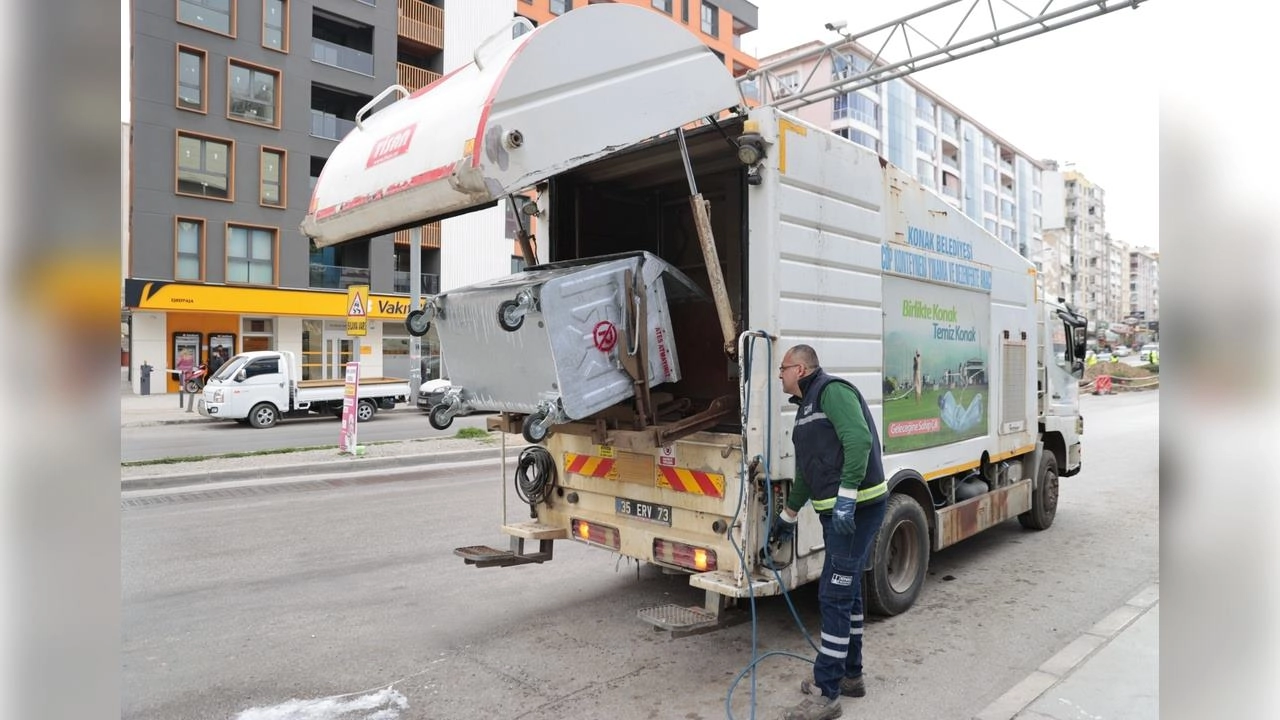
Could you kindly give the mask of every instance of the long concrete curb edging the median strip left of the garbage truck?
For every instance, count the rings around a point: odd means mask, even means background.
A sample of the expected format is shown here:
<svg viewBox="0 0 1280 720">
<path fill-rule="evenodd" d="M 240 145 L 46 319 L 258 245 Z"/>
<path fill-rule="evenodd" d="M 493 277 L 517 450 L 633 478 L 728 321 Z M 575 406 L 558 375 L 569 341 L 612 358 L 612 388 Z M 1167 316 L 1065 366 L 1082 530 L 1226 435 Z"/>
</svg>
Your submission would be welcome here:
<svg viewBox="0 0 1280 720">
<path fill-rule="evenodd" d="M 508 448 L 511 450 L 511 448 Z M 520 446 L 515 450 L 521 450 Z M 343 457 L 340 460 L 326 460 L 320 462 L 300 462 L 293 465 L 275 465 L 269 468 L 234 468 L 227 470 L 201 470 L 196 473 L 174 473 L 172 475 L 159 475 L 152 478 L 122 478 L 120 491 L 134 489 L 165 489 L 184 486 L 198 486 L 206 483 L 225 483 L 237 480 L 265 480 L 274 478 L 292 478 L 298 475 L 319 475 L 324 473 L 353 473 L 362 470 L 380 470 L 390 468 L 412 468 L 415 465 L 439 465 L 444 462 L 468 462 L 476 460 L 498 460 L 502 457 L 500 447 L 485 447 L 477 450 L 454 450 L 449 452 L 431 452 L 419 455 L 401 455 L 392 457 Z"/>
</svg>

